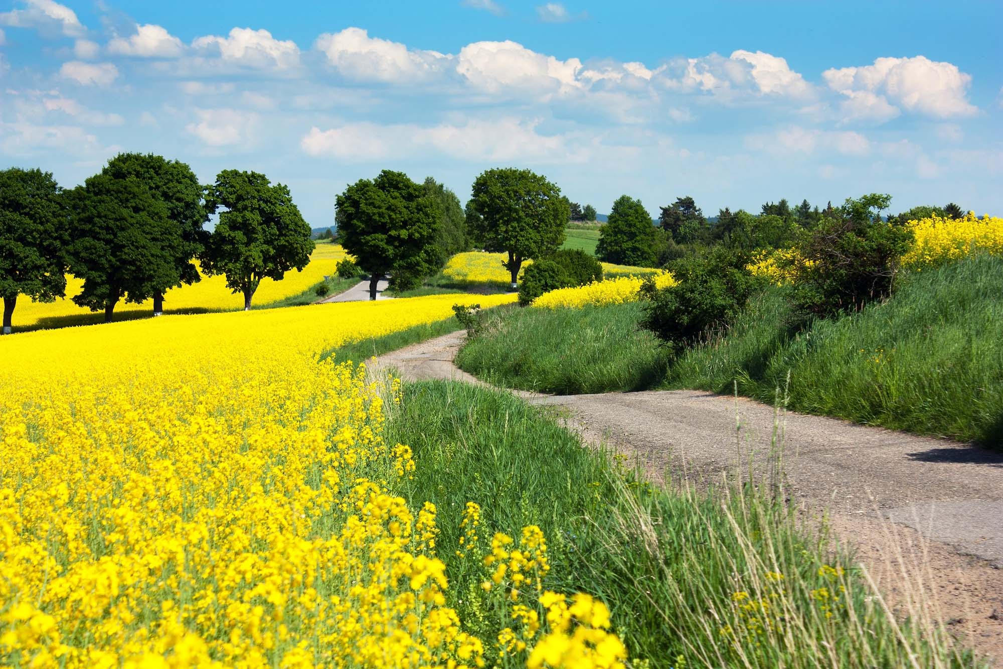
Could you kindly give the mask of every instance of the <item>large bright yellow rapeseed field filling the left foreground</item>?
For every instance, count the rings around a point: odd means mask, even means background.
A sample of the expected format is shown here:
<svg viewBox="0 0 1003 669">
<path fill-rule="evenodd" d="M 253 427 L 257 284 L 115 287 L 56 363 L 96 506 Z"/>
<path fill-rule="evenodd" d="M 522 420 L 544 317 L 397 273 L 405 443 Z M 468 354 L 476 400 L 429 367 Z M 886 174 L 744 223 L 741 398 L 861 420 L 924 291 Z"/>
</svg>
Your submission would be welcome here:
<svg viewBox="0 0 1003 669">
<path fill-rule="evenodd" d="M 543 587 L 535 526 L 482 548 L 510 625 L 462 631 L 436 509 L 398 494 L 420 463 L 383 440 L 397 383 L 318 359 L 463 299 L 0 340 L 0 665 L 622 667 L 606 607 Z M 467 544 L 478 521 L 468 504 Z"/>
</svg>

